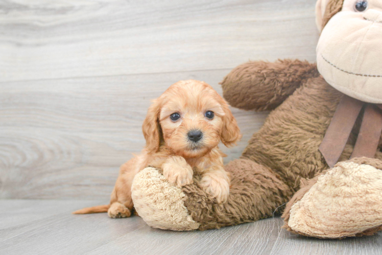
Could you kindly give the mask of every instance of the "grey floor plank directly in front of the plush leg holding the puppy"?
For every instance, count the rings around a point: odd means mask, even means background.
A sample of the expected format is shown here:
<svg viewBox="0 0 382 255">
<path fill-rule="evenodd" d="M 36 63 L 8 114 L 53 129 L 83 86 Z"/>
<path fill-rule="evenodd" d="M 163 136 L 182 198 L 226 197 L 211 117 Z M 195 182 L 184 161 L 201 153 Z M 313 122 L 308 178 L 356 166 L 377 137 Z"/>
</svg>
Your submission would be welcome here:
<svg viewBox="0 0 382 255">
<path fill-rule="evenodd" d="M 173 232 L 149 230 L 129 233 L 90 250 L 90 254 L 269 254 L 279 232 L 280 219 L 224 227 L 220 230 Z M 147 243 L 150 241 L 149 245 Z"/>
</svg>

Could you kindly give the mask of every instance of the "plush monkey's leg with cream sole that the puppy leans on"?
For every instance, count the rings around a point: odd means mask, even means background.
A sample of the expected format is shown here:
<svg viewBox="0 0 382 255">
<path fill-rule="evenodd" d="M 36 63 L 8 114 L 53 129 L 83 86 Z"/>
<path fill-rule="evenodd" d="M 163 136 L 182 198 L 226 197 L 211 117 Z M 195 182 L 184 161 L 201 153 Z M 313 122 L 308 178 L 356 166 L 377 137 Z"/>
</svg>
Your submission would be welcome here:
<svg viewBox="0 0 382 255">
<path fill-rule="evenodd" d="M 160 169 L 147 167 L 134 177 L 134 208 L 155 228 L 207 230 L 271 217 L 293 194 L 269 168 L 253 161 L 234 160 L 225 170 L 231 175 L 231 187 L 227 201 L 219 203 L 207 193 L 201 176 L 179 187 Z"/>
</svg>

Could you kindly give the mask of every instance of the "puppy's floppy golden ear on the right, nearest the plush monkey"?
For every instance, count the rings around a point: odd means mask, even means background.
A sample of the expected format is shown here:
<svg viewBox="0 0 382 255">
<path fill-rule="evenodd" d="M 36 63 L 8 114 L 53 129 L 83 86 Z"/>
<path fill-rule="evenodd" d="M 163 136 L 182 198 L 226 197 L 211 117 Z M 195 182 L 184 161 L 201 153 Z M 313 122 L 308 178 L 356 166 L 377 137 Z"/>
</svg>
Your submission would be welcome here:
<svg viewBox="0 0 382 255">
<path fill-rule="evenodd" d="M 229 110 L 226 101 L 223 101 L 221 105 L 225 115 L 223 116 L 223 129 L 220 137 L 222 143 L 224 143 L 225 146 L 230 147 L 242 138 L 242 134 L 240 133 L 236 119 L 233 117 L 231 110 Z"/>
</svg>

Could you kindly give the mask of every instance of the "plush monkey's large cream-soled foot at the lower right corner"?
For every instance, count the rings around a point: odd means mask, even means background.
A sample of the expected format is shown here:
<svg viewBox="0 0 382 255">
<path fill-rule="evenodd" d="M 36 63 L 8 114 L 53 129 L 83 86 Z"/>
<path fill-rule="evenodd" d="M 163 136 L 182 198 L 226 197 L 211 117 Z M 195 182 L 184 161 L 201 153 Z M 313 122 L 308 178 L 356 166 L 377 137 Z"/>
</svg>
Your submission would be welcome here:
<svg viewBox="0 0 382 255">
<path fill-rule="evenodd" d="M 382 161 L 339 162 L 309 181 L 282 215 L 286 230 L 318 238 L 373 235 L 382 230 Z"/>
</svg>

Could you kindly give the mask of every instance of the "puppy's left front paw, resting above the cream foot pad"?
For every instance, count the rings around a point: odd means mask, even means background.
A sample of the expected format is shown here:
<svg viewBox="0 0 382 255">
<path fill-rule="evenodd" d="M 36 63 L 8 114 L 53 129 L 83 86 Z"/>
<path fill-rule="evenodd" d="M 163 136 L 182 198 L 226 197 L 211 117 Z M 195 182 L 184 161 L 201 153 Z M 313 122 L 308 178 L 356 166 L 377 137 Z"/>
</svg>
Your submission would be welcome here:
<svg viewBox="0 0 382 255">
<path fill-rule="evenodd" d="M 183 157 L 173 156 L 163 164 L 163 175 L 175 185 L 182 187 L 193 183 L 193 168 L 187 164 Z"/>
</svg>

